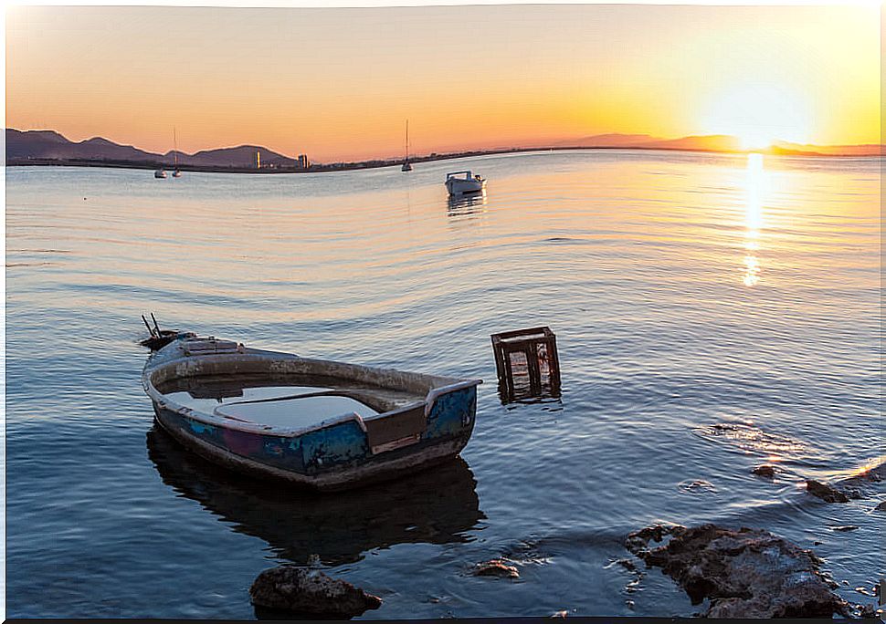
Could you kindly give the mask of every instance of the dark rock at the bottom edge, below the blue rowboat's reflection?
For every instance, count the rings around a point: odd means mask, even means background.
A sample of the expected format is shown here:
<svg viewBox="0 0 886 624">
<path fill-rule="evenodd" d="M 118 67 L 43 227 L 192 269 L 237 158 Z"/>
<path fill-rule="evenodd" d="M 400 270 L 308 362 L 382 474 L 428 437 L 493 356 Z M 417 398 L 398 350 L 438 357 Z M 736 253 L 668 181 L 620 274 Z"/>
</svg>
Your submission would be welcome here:
<svg viewBox="0 0 886 624">
<path fill-rule="evenodd" d="M 353 618 L 382 604 L 381 598 L 347 581 L 295 566 L 272 567 L 259 574 L 249 597 L 258 607 L 338 618 Z"/>
</svg>

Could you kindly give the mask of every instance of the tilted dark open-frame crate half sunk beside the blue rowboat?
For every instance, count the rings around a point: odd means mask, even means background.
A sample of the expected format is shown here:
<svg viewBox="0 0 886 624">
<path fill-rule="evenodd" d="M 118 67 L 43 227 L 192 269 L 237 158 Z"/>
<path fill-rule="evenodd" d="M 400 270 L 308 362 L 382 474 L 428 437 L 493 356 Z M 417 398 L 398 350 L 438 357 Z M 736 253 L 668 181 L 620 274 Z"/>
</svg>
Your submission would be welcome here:
<svg viewBox="0 0 886 624">
<path fill-rule="evenodd" d="M 557 338 L 550 328 L 492 334 L 502 401 L 560 396 Z"/>
</svg>

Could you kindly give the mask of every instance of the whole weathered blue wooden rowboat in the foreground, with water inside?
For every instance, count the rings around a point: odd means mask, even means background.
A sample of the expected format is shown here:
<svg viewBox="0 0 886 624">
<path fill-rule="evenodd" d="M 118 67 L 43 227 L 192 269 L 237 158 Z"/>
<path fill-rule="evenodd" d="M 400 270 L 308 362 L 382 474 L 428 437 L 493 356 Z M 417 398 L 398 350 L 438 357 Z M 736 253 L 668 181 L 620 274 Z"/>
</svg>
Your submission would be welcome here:
<svg viewBox="0 0 886 624">
<path fill-rule="evenodd" d="M 454 457 L 473 431 L 480 383 L 188 335 L 153 353 L 142 372 L 156 421 L 185 447 L 318 490 Z"/>
</svg>

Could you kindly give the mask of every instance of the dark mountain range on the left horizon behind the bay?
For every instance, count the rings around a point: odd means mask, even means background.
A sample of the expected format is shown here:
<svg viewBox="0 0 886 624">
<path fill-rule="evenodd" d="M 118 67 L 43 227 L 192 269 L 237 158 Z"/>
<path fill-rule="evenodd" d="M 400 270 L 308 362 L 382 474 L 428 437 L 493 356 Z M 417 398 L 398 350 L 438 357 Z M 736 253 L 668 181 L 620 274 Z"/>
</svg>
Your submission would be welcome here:
<svg viewBox="0 0 886 624">
<path fill-rule="evenodd" d="M 195 154 L 178 152 L 178 162 L 182 165 L 202 167 L 248 168 L 256 165 L 256 152 L 260 154 L 262 166 L 296 166 L 294 159 L 270 151 L 258 145 L 240 145 L 220 150 L 198 151 Z M 6 161 L 54 160 L 54 161 L 121 161 L 145 162 L 157 165 L 171 165 L 174 151 L 155 154 L 142 151 L 132 145 L 118 145 L 111 140 L 95 139 L 73 142 L 54 130 L 13 130 L 6 129 Z"/>
</svg>

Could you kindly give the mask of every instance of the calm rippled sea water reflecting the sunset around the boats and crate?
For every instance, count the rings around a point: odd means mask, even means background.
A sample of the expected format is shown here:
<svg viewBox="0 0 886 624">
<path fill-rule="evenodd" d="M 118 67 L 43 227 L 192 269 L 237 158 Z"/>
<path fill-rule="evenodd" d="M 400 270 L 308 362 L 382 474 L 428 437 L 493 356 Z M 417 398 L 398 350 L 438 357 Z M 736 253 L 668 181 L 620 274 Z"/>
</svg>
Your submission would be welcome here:
<svg viewBox="0 0 886 624">
<path fill-rule="evenodd" d="M 10 617 L 256 617 L 287 561 L 367 618 L 691 615 L 613 561 L 655 522 L 813 547 L 851 600 L 886 576 L 878 159 L 575 151 L 305 175 L 6 170 Z M 489 179 L 450 203 L 447 171 Z M 462 460 L 316 497 L 153 428 L 139 315 L 250 346 L 480 377 Z M 490 334 L 548 325 L 560 401 L 503 406 Z M 775 463 L 775 481 L 750 471 Z M 834 527 L 855 525 L 853 531 Z M 517 581 L 470 576 L 509 556 Z"/>
</svg>

